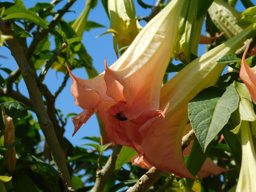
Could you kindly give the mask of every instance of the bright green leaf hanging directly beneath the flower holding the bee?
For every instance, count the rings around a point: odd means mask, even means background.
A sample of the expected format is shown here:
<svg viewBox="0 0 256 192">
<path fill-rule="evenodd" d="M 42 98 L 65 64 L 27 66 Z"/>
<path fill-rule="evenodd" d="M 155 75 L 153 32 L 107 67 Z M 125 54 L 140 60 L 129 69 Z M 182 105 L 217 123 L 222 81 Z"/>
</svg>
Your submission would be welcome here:
<svg viewBox="0 0 256 192">
<path fill-rule="evenodd" d="M 117 156 L 117 161 L 115 163 L 115 170 L 121 169 L 124 164 L 130 161 L 135 155 L 137 155 L 137 151 L 133 150 L 130 147 L 123 146 L 119 155 Z"/>
</svg>

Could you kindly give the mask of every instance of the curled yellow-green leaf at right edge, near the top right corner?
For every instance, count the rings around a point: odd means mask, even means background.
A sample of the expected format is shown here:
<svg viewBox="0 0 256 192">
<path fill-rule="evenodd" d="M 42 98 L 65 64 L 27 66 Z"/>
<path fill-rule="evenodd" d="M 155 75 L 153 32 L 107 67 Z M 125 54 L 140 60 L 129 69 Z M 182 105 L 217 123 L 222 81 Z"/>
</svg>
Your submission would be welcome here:
<svg viewBox="0 0 256 192">
<path fill-rule="evenodd" d="M 249 7 L 243 13 L 241 13 L 240 17 L 237 19 L 236 24 L 241 28 L 247 28 L 251 24 L 256 22 L 256 6 Z"/>
</svg>

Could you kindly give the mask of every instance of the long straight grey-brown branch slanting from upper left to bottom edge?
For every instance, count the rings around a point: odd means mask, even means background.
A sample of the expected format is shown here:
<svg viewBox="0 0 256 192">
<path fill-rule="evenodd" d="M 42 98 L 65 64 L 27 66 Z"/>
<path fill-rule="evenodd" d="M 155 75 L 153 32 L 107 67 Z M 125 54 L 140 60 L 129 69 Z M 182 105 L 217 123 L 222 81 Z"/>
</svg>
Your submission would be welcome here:
<svg viewBox="0 0 256 192">
<path fill-rule="evenodd" d="M 54 132 L 53 124 L 50 121 L 45 109 L 42 93 L 37 86 L 35 71 L 30 67 L 25 57 L 23 48 L 20 46 L 19 42 L 14 36 L 13 31 L 11 30 L 11 22 L 8 20 L 4 22 L 4 20 L 0 18 L 0 30 L 4 35 L 13 35 L 13 39 L 7 40 L 6 43 L 8 44 L 9 49 L 11 50 L 11 55 L 13 55 L 15 61 L 17 62 L 22 77 L 26 83 L 30 100 L 37 115 L 39 125 L 45 135 L 46 141 L 49 144 L 56 168 L 61 178 L 63 179 L 64 185 L 66 186 L 65 192 L 75 191 L 74 186 L 72 185 L 72 181 L 69 177 L 65 153 L 59 145 L 58 139 Z"/>
</svg>

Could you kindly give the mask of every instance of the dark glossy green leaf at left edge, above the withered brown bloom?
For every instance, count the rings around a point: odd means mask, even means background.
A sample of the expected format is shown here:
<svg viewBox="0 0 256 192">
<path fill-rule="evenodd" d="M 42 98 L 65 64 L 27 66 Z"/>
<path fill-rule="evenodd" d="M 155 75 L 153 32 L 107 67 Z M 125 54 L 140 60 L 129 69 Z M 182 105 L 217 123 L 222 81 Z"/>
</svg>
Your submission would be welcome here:
<svg viewBox="0 0 256 192">
<path fill-rule="evenodd" d="M 33 111 L 31 107 L 21 102 L 11 101 L 5 102 L 3 105 L 6 114 L 13 118 L 13 124 L 16 124 L 19 120 L 28 116 L 28 110 Z"/>
</svg>

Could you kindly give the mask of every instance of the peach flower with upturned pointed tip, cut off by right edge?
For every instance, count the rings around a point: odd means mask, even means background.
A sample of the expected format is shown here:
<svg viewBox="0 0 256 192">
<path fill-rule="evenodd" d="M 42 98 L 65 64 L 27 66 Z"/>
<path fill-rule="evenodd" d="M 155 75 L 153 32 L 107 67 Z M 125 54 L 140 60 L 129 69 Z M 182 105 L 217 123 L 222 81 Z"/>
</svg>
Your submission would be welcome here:
<svg viewBox="0 0 256 192">
<path fill-rule="evenodd" d="M 249 90 L 252 101 L 256 102 L 256 66 L 250 68 L 245 61 L 245 55 L 249 46 L 250 45 L 248 44 L 245 52 L 243 53 L 239 76 Z"/>
</svg>

